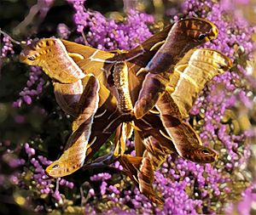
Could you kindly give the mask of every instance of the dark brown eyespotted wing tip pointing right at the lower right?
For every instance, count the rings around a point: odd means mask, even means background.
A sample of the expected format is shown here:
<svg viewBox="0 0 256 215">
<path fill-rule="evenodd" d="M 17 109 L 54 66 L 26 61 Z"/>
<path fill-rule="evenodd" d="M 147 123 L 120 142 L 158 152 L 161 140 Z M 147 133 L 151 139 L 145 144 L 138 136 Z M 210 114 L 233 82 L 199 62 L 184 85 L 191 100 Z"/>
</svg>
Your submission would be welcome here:
<svg viewBox="0 0 256 215">
<path fill-rule="evenodd" d="M 218 159 L 218 153 L 205 146 L 196 145 L 193 150 L 186 154 L 185 158 L 197 163 L 211 163 Z"/>
</svg>

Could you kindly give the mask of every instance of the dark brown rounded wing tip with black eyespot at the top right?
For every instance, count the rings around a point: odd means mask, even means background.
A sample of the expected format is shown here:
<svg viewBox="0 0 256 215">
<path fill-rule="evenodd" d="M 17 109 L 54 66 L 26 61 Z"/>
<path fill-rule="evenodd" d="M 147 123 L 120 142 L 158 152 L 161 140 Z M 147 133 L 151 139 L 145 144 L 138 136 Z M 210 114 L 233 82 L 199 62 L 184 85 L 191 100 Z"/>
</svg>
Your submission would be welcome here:
<svg viewBox="0 0 256 215">
<path fill-rule="evenodd" d="M 190 42 L 198 45 L 210 41 L 218 36 L 218 28 L 212 22 L 201 19 L 191 18 L 179 20 L 177 22 L 177 31 Z"/>
</svg>

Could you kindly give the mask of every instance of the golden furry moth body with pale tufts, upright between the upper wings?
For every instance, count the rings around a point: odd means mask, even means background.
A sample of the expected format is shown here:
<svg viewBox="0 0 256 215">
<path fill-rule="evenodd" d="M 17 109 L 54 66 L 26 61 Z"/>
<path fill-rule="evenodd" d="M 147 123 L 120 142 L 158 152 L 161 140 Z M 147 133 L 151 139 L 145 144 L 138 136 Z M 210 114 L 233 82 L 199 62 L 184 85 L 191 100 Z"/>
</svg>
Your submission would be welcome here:
<svg viewBox="0 0 256 215">
<path fill-rule="evenodd" d="M 133 106 L 129 92 L 128 67 L 125 62 L 118 62 L 113 68 L 113 82 L 119 93 L 119 110 L 131 112 Z"/>
</svg>

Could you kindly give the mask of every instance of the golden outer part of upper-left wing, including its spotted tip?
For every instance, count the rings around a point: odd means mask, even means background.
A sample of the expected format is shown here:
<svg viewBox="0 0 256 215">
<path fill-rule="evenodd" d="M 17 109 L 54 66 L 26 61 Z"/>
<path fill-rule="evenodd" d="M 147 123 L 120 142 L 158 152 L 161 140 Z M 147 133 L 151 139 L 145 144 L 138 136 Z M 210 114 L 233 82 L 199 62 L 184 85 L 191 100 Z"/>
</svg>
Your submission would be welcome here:
<svg viewBox="0 0 256 215">
<path fill-rule="evenodd" d="M 56 38 L 32 42 L 20 53 L 20 61 L 41 66 L 49 77 L 61 83 L 77 82 L 85 76 L 79 65 L 68 55 L 61 40 Z"/>
</svg>

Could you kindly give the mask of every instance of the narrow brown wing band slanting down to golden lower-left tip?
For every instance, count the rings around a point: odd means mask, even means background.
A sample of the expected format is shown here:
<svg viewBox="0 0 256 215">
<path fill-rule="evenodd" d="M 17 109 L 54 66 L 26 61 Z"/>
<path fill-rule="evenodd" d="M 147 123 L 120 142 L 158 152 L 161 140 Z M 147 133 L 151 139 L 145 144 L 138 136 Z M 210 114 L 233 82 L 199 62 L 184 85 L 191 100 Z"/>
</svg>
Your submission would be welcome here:
<svg viewBox="0 0 256 215">
<path fill-rule="evenodd" d="M 59 178 L 71 174 L 84 164 L 93 118 L 98 108 L 100 88 L 95 76 L 86 77 L 89 81 L 79 100 L 78 116 L 73 122 L 73 133 L 61 157 L 46 168 L 46 172 L 51 177 Z"/>
</svg>

